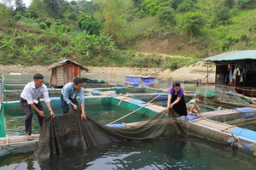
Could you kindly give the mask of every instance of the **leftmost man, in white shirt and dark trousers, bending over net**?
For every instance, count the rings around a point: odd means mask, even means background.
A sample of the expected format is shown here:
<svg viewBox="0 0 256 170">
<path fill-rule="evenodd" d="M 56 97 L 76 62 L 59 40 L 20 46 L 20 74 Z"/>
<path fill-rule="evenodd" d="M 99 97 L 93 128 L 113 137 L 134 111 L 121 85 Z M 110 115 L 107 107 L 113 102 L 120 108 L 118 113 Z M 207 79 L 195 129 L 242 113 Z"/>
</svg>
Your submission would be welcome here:
<svg viewBox="0 0 256 170">
<path fill-rule="evenodd" d="M 20 94 L 20 105 L 26 113 L 25 119 L 25 129 L 26 138 L 32 140 L 32 110 L 37 113 L 38 122 L 40 127 L 45 116 L 44 107 L 40 102 L 40 96 L 44 95 L 44 102 L 47 106 L 50 116 L 55 117 L 54 111 L 52 111 L 50 106 L 50 99 L 48 94 L 48 88 L 44 84 L 44 76 L 37 73 L 33 77 L 32 82 L 28 82 L 25 88 Z"/>
</svg>

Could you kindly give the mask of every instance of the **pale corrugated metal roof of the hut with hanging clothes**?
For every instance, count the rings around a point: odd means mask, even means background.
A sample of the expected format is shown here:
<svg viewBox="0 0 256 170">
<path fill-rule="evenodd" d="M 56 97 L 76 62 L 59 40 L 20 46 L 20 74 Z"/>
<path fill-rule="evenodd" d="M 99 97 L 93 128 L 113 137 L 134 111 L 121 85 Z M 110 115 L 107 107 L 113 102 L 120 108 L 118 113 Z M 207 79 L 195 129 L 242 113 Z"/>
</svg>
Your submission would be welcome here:
<svg viewBox="0 0 256 170">
<path fill-rule="evenodd" d="M 243 59 L 256 59 L 256 50 L 243 50 L 243 51 L 230 51 L 224 54 L 214 55 L 201 59 L 202 61 L 230 61 L 230 60 L 243 60 Z"/>
</svg>

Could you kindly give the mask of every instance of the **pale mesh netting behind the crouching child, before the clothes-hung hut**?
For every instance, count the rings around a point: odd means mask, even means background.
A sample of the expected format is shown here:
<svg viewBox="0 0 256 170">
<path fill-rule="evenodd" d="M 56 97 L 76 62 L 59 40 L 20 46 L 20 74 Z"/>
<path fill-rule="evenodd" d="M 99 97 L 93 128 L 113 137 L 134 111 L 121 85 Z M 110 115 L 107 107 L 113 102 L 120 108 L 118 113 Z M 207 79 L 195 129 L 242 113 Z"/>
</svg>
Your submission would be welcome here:
<svg viewBox="0 0 256 170">
<path fill-rule="evenodd" d="M 227 105 L 230 107 L 247 106 L 250 101 L 241 94 L 237 94 L 235 88 L 217 85 L 217 84 L 200 84 L 195 90 L 195 94 L 204 96 L 211 105 Z"/>
</svg>

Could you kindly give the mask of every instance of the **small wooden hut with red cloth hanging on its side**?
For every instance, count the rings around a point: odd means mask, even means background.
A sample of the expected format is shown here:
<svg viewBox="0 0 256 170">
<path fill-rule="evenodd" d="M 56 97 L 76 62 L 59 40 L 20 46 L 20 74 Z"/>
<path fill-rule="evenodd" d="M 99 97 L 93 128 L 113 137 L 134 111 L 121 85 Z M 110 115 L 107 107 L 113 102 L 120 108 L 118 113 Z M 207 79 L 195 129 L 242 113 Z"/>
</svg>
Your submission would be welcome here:
<svg viewBox="0 0 256 170">
<path fill-rule="evenodd" d="M 49 70 L 51 70 L 49 82 L 57 87 L 64 86 L 67 82 L 73 82 L 74 77 L 81 76 L 81 70 L 89 71 L 84 65 L 70 59 L 64 59 L 49 65 Z"/>
</svg>

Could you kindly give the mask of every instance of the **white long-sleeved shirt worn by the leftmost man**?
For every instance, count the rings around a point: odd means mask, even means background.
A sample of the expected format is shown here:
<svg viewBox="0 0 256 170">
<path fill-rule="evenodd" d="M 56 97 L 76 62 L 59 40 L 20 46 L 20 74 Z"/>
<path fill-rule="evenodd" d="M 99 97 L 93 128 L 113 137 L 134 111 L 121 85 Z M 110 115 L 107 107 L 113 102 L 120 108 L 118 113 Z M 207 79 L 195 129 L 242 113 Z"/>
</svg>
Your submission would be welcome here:
<svg viewBox="0 0 256 170">
<path fill-rule="evenodd" d="M 33 99 L 39 99 L 44 94 L 44 102 L 49 102 L 48 88 L 43 84 L 40 88 L 35 87 L 35 82 L 28 82 L 20 94 L 20 98 L 26 99 L 28 105 L 33 103 Z"/>
</svg>

